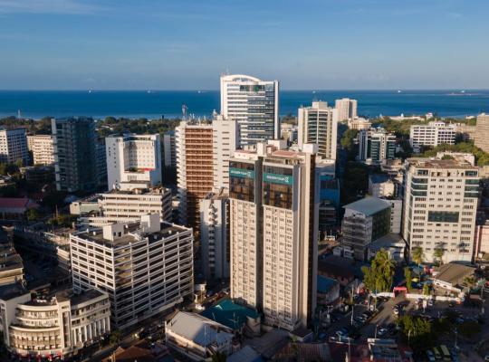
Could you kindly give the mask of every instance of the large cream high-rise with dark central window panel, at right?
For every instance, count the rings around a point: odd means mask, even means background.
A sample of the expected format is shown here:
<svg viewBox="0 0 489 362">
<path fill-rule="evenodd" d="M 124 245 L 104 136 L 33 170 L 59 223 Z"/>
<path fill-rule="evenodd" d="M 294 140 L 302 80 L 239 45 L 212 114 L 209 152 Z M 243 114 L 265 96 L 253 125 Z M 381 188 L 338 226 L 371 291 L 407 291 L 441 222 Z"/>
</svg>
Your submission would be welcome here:
<svg viewBox="0 0 489 362">
<path fill-rule="evenodd" d="M 479 197 L 479 170 L 455 159 L 409 158 L 404 194 L 403 236 L 410 250 L 423 249 L 433 262 L 471 262 Z"/>
</svg>

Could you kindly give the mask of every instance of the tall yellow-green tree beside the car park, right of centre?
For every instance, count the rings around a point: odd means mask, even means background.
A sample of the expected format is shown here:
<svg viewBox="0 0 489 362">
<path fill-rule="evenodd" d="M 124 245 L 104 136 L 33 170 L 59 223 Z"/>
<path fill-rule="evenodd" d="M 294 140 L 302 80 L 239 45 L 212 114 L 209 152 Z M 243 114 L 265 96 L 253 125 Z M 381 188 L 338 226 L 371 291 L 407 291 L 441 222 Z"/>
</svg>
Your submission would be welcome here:
<svg viewBox="0 0 489 362">
<path fill-rule="evenodd" d="M 395 270 L 396 262 L 390 258 L 388 252 L 380 249 L 375 254 L 370 267 L 361 268 L 364 275 L 363 282 L 369 291 L 390 291 Z"/>
</svg>

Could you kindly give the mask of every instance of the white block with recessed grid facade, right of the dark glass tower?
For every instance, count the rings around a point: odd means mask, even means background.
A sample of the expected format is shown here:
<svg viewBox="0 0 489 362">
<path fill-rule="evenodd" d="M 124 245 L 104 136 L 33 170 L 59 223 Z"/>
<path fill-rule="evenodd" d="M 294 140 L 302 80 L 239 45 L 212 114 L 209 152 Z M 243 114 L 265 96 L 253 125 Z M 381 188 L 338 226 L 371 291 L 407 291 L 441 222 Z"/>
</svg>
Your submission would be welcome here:
<svg viewBox="0 0 489 362">
<path fill-rule="evenodd" d="M 109 189 L 134 184 L 161 184 L 159 135 L 124 135 L 105 138 Z"/>
</svg>

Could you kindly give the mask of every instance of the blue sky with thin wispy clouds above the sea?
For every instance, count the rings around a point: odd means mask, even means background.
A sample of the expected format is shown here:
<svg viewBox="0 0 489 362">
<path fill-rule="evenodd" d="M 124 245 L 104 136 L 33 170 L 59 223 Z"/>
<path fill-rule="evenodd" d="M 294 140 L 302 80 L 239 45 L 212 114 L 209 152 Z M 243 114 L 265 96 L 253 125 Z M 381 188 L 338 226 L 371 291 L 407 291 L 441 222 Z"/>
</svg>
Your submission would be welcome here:
<svg viewBox="0 0 489 362">
<path fill-rule="evenodd" d="M 0 0 L 0 89 L 488 89 L 488 0 Z"/>
</svg>

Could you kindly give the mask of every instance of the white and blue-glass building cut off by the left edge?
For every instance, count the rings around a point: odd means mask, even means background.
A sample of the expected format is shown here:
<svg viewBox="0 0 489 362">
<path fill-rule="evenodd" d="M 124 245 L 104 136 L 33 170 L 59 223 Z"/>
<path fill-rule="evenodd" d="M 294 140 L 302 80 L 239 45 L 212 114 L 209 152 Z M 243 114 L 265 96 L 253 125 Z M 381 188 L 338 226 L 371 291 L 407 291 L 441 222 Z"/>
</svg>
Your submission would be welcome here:
<svg viewBox="0 0 489 362">
<path fill-rule="evenodd" d="M 0 129 L 0 162 L 22 161 L 29 165 L 29 149 L 25 129 Z"/>
</svg>

